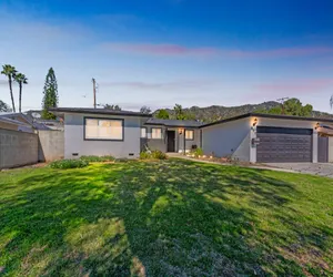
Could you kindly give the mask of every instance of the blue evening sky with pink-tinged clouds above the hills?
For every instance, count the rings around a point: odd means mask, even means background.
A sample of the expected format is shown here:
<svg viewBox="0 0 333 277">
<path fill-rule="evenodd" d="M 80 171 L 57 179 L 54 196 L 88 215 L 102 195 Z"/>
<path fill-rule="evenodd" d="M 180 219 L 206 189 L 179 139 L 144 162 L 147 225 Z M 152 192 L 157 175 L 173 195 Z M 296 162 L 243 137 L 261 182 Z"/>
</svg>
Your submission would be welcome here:
<svg viewBox="0 0 333 277">
<path fill-rule="evenodd" d="M 0 0 L 0 62 L 29 79 L 23 110 L 52 66 L 59 106 L 92 106 L 94 78 L 97 102 L 123 110 L 289 96 L 332 112 L 332 0 Z"/>
</svg>

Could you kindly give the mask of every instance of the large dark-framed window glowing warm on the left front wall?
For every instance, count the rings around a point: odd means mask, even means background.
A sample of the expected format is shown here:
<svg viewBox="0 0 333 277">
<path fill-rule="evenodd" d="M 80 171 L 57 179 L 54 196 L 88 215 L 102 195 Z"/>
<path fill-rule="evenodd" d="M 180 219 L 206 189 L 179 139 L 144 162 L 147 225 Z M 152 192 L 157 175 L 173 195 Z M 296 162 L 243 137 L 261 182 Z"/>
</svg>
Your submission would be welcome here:
<svg viewBox="0 0 333 277">
<path fill-rule="evenodd" d="M 122 141 L 123 120 L 85 119 L 84 140 Z"/>
</svg>

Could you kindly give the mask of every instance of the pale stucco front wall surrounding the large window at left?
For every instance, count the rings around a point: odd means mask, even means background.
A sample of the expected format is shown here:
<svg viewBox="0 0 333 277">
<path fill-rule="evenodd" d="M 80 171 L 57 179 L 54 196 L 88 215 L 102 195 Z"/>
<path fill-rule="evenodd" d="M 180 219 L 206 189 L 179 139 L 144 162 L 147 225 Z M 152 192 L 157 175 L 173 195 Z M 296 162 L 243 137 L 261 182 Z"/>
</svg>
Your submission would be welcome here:
<svg viewBox="0 0 333 277">
<path fill-rule="evenodd" d="M 84 141 L 84 117 L 105 117 L 124 120 L 123 141 Z M 140 155 L 140 117 L 90 115 L 68 113 L 64 115 L 64 157 L 73 158 L 73 153 L 82 155 L 112 155 L 114 157 L 138 157 Z M 129 154 L 134 154 L 130 156 Z"/>
</svg>

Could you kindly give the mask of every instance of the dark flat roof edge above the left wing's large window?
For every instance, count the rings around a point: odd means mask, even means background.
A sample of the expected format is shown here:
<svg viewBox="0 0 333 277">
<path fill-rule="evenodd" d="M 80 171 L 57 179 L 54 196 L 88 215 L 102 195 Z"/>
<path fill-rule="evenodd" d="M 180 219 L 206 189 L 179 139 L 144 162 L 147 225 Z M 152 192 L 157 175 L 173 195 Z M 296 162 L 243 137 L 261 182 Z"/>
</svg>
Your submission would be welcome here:
<svg viewBox="0 0 333 277">
<path fill-rule="evenodd" d="M 132 111 L 114 111 L 109 109 L 91 109 L 91 107 L 52 107 L 51 113 L 89 113 L 89 114 L 109 114 L 109 115 L 127 115 L 151 117 L 151 114 L 132 112 Z"/>
</svg>

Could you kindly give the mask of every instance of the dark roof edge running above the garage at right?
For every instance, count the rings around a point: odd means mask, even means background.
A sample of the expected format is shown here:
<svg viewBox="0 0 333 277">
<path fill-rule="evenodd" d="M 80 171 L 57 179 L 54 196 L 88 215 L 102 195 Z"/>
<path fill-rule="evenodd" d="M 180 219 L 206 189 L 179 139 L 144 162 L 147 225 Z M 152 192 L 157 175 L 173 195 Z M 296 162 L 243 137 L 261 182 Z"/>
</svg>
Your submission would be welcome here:
<svg viewBox="0 0 333 277">
<path fill-rule="evenodd" d="M 266 119 L 275 119 L 275 120 L 296 120 L 296 121 L 317 121 L 317 122 L 331 122 L 333 123 L 333 119 L 321 119 L 321 117 L 304 117 L 304 116 L 295 116 L 295 115 L 280 115 L 280 114 L 265 114 L 265 113 L 245 113 L 239 116 L 203 124 L 201 127 L 206 127 L 215 124 L 222 124 L 230 121 L 236 121 L 241 119 L 246 119 L 250 116 L 258 116 L 258 117 L 266 117 Z M 332 115 L 333 116 L 333 115 Z"/>
</svg>

